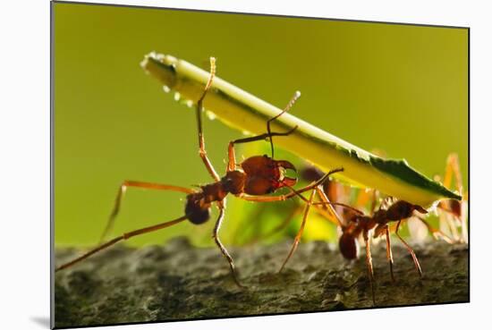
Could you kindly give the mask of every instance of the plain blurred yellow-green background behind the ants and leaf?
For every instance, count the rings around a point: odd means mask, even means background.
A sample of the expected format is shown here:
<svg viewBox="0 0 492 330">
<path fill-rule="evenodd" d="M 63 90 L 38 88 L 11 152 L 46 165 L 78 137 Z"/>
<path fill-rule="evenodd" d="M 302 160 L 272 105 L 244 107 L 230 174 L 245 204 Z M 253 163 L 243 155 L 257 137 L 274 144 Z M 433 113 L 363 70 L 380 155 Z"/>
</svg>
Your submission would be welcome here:
<svg viewBox="0 0 492 330">
<path fill-rule="evenodd" d="M 207 70 L 213 55 L 218 76 L 279 107 L 301 90 L 293 114 L 361 148 L 404 157 L 428 176 L 443 173 L 447 155 L 457 152 L 468 187 L 468 30 L 53 6 L 57 245 L 96 243 L 124 179 L 210 182 L 198 157 L 194 112 L 140 68 L 152 50 Z M 227 142 L 241 133 L 218 121 L 204 125 L 208 155 L 224 173 Z M 239 154 L 266 150 L 259 142 Z M 130 189 L 114 233 L 181 216 L 183 199 L 177 192 Z M 253 207 L 233 199 L 221 231 L 225 243 L 250 221 Z M 179 224 L 130 243 L 186 234 L 207 244 L 213 223 Z"/>
</svg>

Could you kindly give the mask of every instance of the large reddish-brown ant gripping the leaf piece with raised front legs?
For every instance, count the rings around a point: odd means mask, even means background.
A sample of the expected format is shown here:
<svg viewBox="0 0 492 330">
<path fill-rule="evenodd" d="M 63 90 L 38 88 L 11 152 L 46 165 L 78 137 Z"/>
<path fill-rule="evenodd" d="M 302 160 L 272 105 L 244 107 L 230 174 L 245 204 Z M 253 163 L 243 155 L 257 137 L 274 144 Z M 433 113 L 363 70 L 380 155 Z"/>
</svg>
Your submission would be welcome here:
<svg viewBox="0 0 492 330">
<path fill-rule="evenodd" d="M 270 201 L 281 201 L 285 199 L 293 198 L 294 196 L 301 196 L 301 192 L 314 190 L 319 184 L 322 184 L 325 180 L 327 180 L 328 175 L 331 173 L 336 173 L 343 171 L 343 169 L 335 169 L 325 176 L 323 176 L 318 182 L 311 183 L 310 185 L 302 188 L 301 190 L 293 190 L 292 186 L 297 182 L 297 179 L 290 178 L 285 176 L 286 170 L 293 170 L 293 172 L 297 173 L 295 166 L 286 161 L 286 160 L 275 160 L 274 159 L 274 146 L 272 138 L 274 136 L 288 136 L 294 130 L 297 129 L 297 126 L 294 127 L 290 131 L 285 132 L 272 132 L 270 131 L 270 123 L 276 120 L 280 115 L 284 114 L 288 111 L 293 103 L 296 101 L 298 97 L 300 97 L 300 93 L 297 92 L 293 99 L 289 102 L 289 104 L 285 107 L 285 109 L 280 113 L 274 116 L 273 118 L 267 121 L 267 133 L 260 134 L 257 136 L 253 136 L 250 138 L 244 138 L 239 140 L 233 140 L 229 142 L 228 147 L 228 164 L 226 168 L 225 176 L 222 178 L 218 176 L 214 166 L 211 164 L 210 160 L 207 157 L 207 152 L 205 150 L 205 141 L 203 137 L 202 131 L 202 123 L 201 123 L 201 113 L 203 111 L 203 102 L 205 97 L 207 96 L 208 90 L 211 88 L 212 80 L 215 77 L 216 65 L 215 58 L 210 58 L 210 73 L 208 76 L 208 81 L 205 86 L 205 89 L 199 98 L 197 104 L 197 122 L 198 122 L 198 131 L 199 131 L 199 156 L 201 157 L 203 163 L 205 164 L 208 173 L 214 179 L 213 183 L 209 183 L 206 185 L 202 185 L 199 187 L 199 190 L 191 190 L 189 188 L 184 188 L 180 186 L 161 184 L 161 183 L 151 183 L 151 182 L 134 182 L 134 181 L 125 181 L 120 186 L 118 193 L 115 199 L 115 206 L 113 212 L 109 216 L 109 220 L 106 224 L 106 229 L 104 230 L 101 241 L 104 241 L 106 238 L 106 234 L 109 233 L 113 224 L 115 223 L 115 217 L 118 215 L 123 195 L 125 190 L 128 187 L 135 187 L 145 190 L 174 190 L 179 192 L 184 192 L 187 194 L 186 196 L 186 204 L 184 207 L 184 216 L 180 216 L 172 221 L 168 221 L 162 224 L 156 224 L 152 226 L 148 226 L 145 228 L 141 228 L 138 230 L 131 231 L 129 233 L 123 233 L 123 235 L 116 237 L 111 241 L 107 241 L 103 244 L 100 244 L 97 248 L 93 250 L 89 250 L 89 252 L 85 253 L 79 258 L 75 258 L 72 261 L 65 263 L 64 265 L 57 267 L 55 271 L 62 270 L 67 267 L 72 267 L 76 263 L 84 260 L 85 258 L 89 258 L 93 254 L 97 253 L 100 250 L 105 250 L 106 248 L 114 245 L 118 241 L 128 240 L 133 236 L 137 236 L 143 233 L 151 233 L 157 230 L 170 227 L 174 224 L 179 224 L 184 220 L 190 220 L 192 224 L 203 224 L 208 221 L 210 218 L 210 208 L 215 203 L 218 208 L 219 215 L 216 220 L 216 225 L 214 226 L 214 230 L 212 233 L 212 238 L 215 240 L 216 245 L 221 250 L 222 254 L 225 256 L 229 263 L 229 267 L 231 268 L 231 274 L 233 275 L 234 282 L 242 287 L 242 284 L 239 282 L 238 277 L 235 272 L 233 258 L 225 249 L 225 246 L 222 244 L 218 237 L 218 232 L 220 230 L 220 226 L 224 220 L 225 215 L 225 199 L 228 194 L 233 194 L 234 196 L 255 202 L 270 202 Z M 234 153 L 234 145 L 240 143 L 248 143 L 257 140 L 270 140 L 270 145 L 272 148 L 272 157 L 264 156 L 253 156 L 242 161 L 241 164 L 236 164 L 236 157 Z M 287 187 L 292 191 L 283 195 L 277 196 L 263 196 L 269 193 L 272 193 L 280 188 Z M 309 207 L 308 207 L 309 209 Z"/>
</svg>

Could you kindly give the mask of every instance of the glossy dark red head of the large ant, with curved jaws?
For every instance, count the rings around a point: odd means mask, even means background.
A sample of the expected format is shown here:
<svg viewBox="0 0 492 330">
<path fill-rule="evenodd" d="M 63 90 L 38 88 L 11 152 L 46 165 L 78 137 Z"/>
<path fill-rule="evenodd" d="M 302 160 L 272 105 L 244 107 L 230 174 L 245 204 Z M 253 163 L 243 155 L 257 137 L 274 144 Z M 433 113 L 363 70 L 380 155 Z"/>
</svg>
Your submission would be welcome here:
<svg viewBox="0 0 492 330">
<path fill-rule="evenodd" d="M 296 178 L 285 176 L 287 170 L 297 173 L 295 166 L 286 160 L 254 156 L 244 160 L 241 167 L 246 174 L 244 192 L 250 195 L 265 195 L 297 182 Z"/>
</svg>

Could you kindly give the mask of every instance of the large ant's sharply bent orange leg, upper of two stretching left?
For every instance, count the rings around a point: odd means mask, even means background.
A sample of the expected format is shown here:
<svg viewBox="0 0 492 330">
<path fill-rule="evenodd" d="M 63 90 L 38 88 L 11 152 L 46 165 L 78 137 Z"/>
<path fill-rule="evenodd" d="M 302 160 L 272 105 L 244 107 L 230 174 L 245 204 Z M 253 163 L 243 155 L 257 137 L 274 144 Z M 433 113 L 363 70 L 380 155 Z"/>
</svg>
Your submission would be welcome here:
<svg viewBox="0 0 492 330">
<path fill-rule="evenodd" d="M 101 244 L 107 234 L 111 232 L 111 229 L 113 228 L 113 225 L 115 224 L 115 218 L 120 212 L 120 207 L 122 204 L 123 196 L 124 193 L 126 192 L 126 189 L 128 187 L 134 187 L 134 188 L 140 188 L 144 190 L 174 190 L 174 191 L 179 191 L 179 192 L 184 192 L 185 194 L 190 194 L 195 192 L 195 190 L 189 189 L 189 188 L 184 188 L 184 187 L 179 187 L 179 186 L 173 186 L 170 184 L 161 184 L 161 183 L 154 183 L 154 182 L 137 182 L 137 181 L 124 181 L 121 185 L 120 188 L 118 189 L 118 193 L 116 195 L 115 199 L 115 206 L 113 207 L 113 211 L 111 211 L 111 215 L 109 216 L 107 220 L 106 227 L 101 235 L 101 238 L 99 239 L 98 244 Z"/>
</svg>

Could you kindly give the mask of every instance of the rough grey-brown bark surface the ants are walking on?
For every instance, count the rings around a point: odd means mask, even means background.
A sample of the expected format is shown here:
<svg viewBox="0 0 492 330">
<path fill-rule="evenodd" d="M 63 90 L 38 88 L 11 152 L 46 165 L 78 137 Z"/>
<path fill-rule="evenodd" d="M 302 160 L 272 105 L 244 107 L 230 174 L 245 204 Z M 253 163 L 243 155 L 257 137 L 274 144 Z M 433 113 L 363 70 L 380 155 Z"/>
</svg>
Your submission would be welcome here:
<svg viewBox="0 0 492 330">
<path fill-rule="evenodd" d="M 373 307 L 364 253 L 347 262 L 326 242 L 301 243 L 277 274 L 292 241 L 230 248 L 247 290 L 232 280 L 216 248 L 186 239 L 165 246 L 123 245 L 55 275 L 55 325 L 88 326 Z M 409 253 L 394 244 L 393 283 L 383 244 L 373 246 L 376 306 L 465 302 L 470 299 L 468 249 L 431 241 Z M 56 263 L 80 250 L 56 250 Z"/>
</svg>

